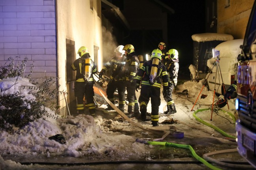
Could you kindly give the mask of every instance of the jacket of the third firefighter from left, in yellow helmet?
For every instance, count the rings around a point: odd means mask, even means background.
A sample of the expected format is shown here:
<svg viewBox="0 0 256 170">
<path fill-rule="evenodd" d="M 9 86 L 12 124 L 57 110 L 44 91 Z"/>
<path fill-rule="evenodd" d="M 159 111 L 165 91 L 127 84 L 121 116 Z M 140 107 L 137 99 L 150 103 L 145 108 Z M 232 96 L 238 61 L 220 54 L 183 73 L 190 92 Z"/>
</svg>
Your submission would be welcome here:
<svg viewBox="0 0 256 170">
<path fill-rule="evenodd" d="M 135 55 L 134 52 L 127 55 L 126 63 L 124 65 L 124 75 L 126 77 L 126 80 L 132 82 L 134 80 L 134 77 L 136 76 L 136 73 L 139 69 L 139 59 Z"/>
</svg>

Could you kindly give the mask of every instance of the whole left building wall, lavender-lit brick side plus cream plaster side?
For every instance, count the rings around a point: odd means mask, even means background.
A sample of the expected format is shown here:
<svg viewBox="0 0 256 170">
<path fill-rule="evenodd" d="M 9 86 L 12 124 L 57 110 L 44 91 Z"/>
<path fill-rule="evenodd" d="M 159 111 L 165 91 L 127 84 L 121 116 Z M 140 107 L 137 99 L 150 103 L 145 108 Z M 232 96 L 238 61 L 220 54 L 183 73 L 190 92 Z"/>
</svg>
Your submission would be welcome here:
<svg viewBox="0 0 256 170">
<path fill-rule="evenodd" d="M 99 48 L 96 64 L 102 69 L 101 0 L 0 0 L 0 65 L 9 57 L 27 57 L 26 73 L 34 61 L 33 78 L 59 77 L 60 91 L 68 92 L 70 103 L 74 96 L 66 82 L 66 39 L 75 42 L 75 54 L 88 47 L 92 60 Z M 66 106 L 63 101 L 60 93 L 60 108 Z"/>
</svg>

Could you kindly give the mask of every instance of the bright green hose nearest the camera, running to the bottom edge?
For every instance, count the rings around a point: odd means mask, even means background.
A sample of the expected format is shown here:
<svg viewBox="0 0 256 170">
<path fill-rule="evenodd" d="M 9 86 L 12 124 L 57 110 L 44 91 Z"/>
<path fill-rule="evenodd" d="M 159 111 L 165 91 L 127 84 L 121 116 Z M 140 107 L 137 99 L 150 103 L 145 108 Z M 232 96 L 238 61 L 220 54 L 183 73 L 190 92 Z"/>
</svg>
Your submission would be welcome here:
<svg viewBox="0 0 256 170">
<path fill-rule="evenodd" d="M 184 145 L 184 144 L 175 144 L 175 143 L 171 143 L 171 142 L 156 142 L 156 141 L 147 141 L 147 140 L 143 140 L 143 139 L 136 139 L 136 142 L 140 142 L 140 143 L 144 143 L 144 144 L 150 144 L 150 145 L 162 145 L 162 146 L 174 146 L 174 147 L 178 147 L 178 148 L 185 148 L 185 149 L 189 149 L 193 155 L 194 158 L 196 158 L 198 161 L 200 161 L 201 163 L 203 163 L 205 166 L 207 166 L 208 168 L 211 168 L 212 170 L 222 170 L 216 166 L 213 166 L 212 164 L 208 163 L 207 161 L 205 161 L 203 158 L 201 158 L 200 156 L 198 156 L 195 152 L 195 150 L 192 148 L 192 146 L 190 145 Z"/>
</svg>

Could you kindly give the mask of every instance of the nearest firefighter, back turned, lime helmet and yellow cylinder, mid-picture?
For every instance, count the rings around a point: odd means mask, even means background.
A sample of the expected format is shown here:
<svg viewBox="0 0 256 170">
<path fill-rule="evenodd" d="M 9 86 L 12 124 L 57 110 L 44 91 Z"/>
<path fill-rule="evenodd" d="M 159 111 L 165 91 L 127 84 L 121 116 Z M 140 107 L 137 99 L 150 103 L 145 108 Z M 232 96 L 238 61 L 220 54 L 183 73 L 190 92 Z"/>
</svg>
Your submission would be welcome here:
<svg viewBox="0 0 256 170">
<path fill-rule="evenodd" d="M 168 88 L 168 74 L 166 67 L 161 61 L 161 50 L 154 49 L 152 51 L 151 60 L 144 62 L 136 77 L 136 89 L 138 89 L 141 84 L 141 92 L 139 95 L 139 110 L 141 112 L 141 120 L 146 120 L 147 105 L 149 103 L 149 99 L 151 98 L 151 121 L 153 126 L 158 126 L 159 121 L 158 111 L 161 104 L 161 79 L 163 80 L 164 91 L 167 91 Z"/>
</svg>

